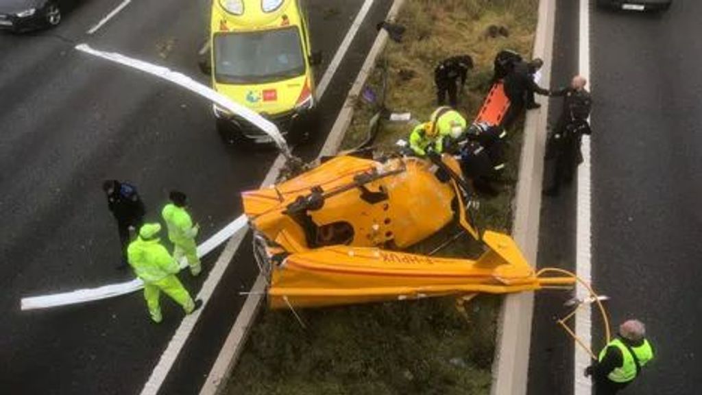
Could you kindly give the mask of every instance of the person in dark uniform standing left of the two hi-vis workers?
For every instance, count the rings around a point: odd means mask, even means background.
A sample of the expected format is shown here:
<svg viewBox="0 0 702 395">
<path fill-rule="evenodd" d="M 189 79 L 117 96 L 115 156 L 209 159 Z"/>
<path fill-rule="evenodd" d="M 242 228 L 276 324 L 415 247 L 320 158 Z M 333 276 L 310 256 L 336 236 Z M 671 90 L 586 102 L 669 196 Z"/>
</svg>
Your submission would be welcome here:
<svg viewBox="0 0 702 395">
<path fill-rule="evenodd" d="M 130 230 L 138 231 L 144 224 L 146 209 L 135 186 L 117 180 L 107 180 L 102 183 L 102 190 L 107 196 L 107 207 L 117 220 L 119 242 L 121 245 L 122 262 L 118 268 L 127 266 L 127 247 L 130 242 Z"/>
</svg>

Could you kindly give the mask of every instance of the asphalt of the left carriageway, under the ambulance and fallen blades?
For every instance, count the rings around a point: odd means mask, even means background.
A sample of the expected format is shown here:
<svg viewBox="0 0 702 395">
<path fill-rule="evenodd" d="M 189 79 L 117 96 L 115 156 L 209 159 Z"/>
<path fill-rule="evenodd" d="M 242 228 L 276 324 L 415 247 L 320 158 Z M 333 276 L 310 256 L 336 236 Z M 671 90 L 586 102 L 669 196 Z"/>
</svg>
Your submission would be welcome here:
<svg viewBox="0 0 702 395">
<path fill-rule="evenodd" d="M 135 394 L 182 318 L 162 299 L 152 325 L 140 292 L 81 306 L 21 312 L 23 296 L 119 283 L 119 240 L 100 188 L 104 179 L 138 186 L 147 219 L 159 219 L 168 190 L 190 195 L 201 240 L 241 214 L 239 193 L 256 188 L 272 150 L 237 150 L 215 131 L 210 105 L 187 91 L 73 49 L 95 48 L 166 65 L 207 83 L 197 68 L 208 1 L 135 1 L 86 32 L 120 1 L 76 1 L 62 25 L 0 34 L 0 389 L 5 394 Z M 361 0 L 310 0 L 312 46 L 324 53 L 317 81 Z M 376 0 L 324 95 L 319 130 L 296 151 L 314 156 L 331 129 L 392 1 Z M 248 245 L 244 241 L 244 245 Z M 218 256 L 204 259 L 196 294 Z M 161 388 L 197 394 L 256 274 L 237 252 Z"/>
</svg>

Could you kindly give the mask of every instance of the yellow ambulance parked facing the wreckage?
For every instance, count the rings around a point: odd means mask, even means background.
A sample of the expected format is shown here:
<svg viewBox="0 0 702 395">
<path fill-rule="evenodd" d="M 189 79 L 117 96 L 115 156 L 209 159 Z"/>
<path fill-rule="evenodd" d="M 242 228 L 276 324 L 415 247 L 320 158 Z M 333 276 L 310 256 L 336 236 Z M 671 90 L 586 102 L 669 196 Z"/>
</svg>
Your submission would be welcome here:
<svg viewBox="0 0 702 395">
<path fill-rule="evenodd" d="M 309 133 L 317 101 L 307 15 L 300 0 L 213 0 L 213 88 L 278 125 L 289 139 Z M 227 141 L 270 142 L 258 128 L 213 106 Z"/>
</svg>

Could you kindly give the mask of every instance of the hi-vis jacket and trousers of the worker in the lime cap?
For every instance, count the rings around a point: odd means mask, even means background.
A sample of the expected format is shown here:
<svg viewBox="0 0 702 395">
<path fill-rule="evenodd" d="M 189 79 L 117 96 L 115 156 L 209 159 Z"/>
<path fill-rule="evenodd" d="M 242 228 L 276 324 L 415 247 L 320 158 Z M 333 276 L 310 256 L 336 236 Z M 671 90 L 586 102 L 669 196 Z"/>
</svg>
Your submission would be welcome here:
<svg viewBox="0 0 702 395">
<path fill-rule="evenodd" d="M 195 308 L 192 297 L 175 276 L 180 271 L 178 262 L 158 238 L 138 237 L 127 248 L 127 256 L 134 272 L 144 282 L 144 299 L 154 322 L 160 323 L 163 319 L 159 305 L 161 291 L 178 302 L 186 314 L 192 313 Z"/>
</svg>

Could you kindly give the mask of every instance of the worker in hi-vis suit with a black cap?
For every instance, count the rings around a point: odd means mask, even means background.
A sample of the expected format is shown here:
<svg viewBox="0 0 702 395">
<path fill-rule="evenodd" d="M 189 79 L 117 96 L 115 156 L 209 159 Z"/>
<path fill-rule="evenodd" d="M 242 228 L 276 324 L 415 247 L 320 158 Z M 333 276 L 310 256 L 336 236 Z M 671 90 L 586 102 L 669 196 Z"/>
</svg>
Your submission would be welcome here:
<svg viewBox="0 0 702 395">
<path fill-rule="evenodd" d="M 182 257 L 185 257 L 188 266 L 190 266 L 190 273 L 197 276 L 202 270 L 195 244 L 195 236 L 197 236 L 199 226 L 193 226 L 190 214 L 185 211 L 187 206 L 185 193 L 171 190 L 169 197 L 171 203 L 161 210 L 161 216 L 164 217 L 168 227 L 168 239 L 173 242 L 173 257 L 179 262 Z"/>
</svg>

